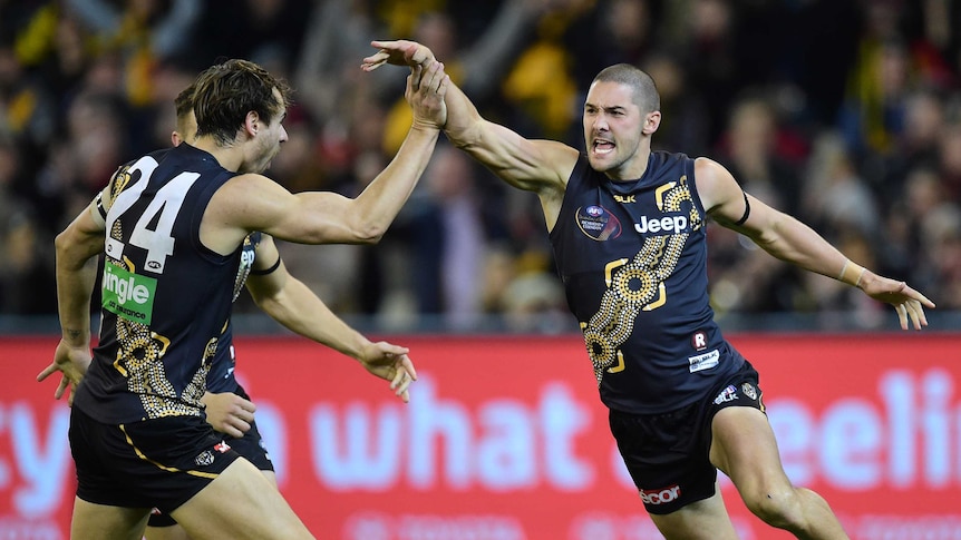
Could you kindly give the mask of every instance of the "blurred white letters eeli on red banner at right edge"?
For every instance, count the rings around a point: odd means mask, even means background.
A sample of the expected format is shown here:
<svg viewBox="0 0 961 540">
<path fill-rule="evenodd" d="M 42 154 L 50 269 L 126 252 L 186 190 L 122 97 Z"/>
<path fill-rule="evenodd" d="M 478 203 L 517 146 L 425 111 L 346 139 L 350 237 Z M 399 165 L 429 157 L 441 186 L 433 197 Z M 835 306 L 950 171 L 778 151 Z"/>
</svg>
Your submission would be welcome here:
<svg viewBox="0 0 961 540">
<path fill-rule="evenodd" d="M 800 401 L 771 400 L 768 418 L 788 477 L 807 484 L 819 474 L 848 491 L 961 485 L 961 408 L 952 403 L 951 374 L 892 370 L 881 374 L 879 394 L 880 404 L 838 400 L 819 421 Z"/>
</svg>

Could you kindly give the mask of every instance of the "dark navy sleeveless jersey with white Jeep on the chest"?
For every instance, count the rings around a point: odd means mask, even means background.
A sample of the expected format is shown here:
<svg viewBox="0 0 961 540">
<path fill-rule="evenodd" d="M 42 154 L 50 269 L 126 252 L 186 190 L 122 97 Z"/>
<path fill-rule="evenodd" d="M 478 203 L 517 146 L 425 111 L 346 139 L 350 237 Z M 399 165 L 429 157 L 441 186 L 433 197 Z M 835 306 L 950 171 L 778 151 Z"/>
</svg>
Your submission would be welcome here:
<svg viewBox="0 0 961 540">
<path fill-rule="evenodd" d="M 705 226 L 683 154 L 652 153 L 631 181 L 577 160 L 551 243 L 609 408 L 678 409 L 744 362 L 714 322 Z"/>
</svg>

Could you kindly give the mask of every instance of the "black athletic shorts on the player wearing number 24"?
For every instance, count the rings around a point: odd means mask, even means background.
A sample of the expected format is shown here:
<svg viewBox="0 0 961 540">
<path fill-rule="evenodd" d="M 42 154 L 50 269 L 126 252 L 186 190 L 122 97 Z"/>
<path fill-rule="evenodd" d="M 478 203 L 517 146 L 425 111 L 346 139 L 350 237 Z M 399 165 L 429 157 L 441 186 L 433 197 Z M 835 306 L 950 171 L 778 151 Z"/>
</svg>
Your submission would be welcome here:
<svg viewBox="0 0 961 540">
<path fill-rule="evenodd" d="M 104 424 L 70 412 L 77 497 L 169 513 L 240 458 L 201 416 Z"/>
</svg>

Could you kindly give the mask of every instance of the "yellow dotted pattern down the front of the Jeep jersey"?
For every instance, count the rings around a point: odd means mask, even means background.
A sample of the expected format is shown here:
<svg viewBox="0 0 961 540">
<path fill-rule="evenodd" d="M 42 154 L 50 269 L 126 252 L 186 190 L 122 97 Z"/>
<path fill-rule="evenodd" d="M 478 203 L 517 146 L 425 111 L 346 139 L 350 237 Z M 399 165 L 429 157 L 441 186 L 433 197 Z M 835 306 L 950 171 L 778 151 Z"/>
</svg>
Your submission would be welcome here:
<svg viewBox="0 0 961 540">
<path fill-rule="evenodd" d="M 702 219 L 693 205 L 687 176 L 662 186 L 656 196 L 662 212 L 682 212 L 687 203 L 690 230 L 700 229 Z M 663 282 L 673 273 L 689 235 L 683 232 L 649 236 L 633 258 L 608 265 L 608 289 L 601 297 L 598 313 L 583 328 L 599 386 L 604 372 L 618 360 L 619 347 L 633 333 L 638 314 L 666 303 Z"/>
</svg>

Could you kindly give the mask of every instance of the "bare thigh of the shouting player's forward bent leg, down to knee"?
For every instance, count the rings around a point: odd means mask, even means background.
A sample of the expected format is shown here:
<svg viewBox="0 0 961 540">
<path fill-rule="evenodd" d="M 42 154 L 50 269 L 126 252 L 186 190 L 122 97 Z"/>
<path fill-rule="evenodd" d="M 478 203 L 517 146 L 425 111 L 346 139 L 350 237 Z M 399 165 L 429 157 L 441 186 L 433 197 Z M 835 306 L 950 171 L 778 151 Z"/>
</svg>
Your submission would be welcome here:
<svg viewBox="0 0 961 540">
<path fill-rule="evenodd" d="M 767 415 L 757 409 L 730 406 L 718 411 L 711 422 L 710 460 L 731 479 L 745 500 L 790 488 L 774 430 Z"/>
</svg>

